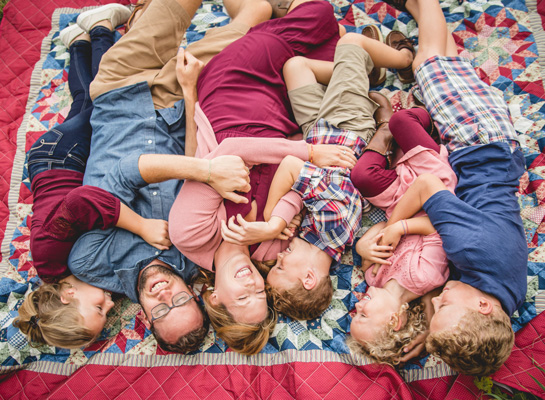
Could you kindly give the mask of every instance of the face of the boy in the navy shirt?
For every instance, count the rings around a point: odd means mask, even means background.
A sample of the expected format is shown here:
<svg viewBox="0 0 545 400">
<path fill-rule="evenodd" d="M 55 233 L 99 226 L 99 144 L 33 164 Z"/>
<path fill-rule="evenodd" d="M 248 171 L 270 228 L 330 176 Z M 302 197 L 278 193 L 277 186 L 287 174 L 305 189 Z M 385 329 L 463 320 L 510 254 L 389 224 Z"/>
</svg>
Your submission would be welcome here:
<svg viewBox="0 0 545 400">
<path fill-rule="evenodd" d="M 479 311 L 481 296 L 479 290 L 466 283 L 447 282 L 441 294 L 431 300 L 435 314 L 430 322 L 430 332 L 457 326 L 469 310 Z"/>
</svg>

